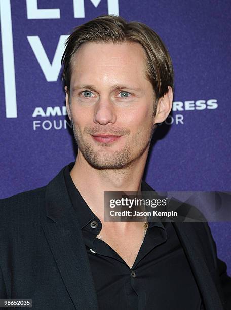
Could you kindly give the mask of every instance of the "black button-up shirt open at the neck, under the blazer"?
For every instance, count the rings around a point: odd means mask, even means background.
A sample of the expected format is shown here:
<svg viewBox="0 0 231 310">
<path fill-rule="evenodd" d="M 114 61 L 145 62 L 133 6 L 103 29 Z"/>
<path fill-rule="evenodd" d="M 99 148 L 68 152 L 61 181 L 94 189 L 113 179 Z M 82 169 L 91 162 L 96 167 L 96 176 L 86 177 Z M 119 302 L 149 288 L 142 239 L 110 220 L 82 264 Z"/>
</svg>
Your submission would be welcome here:
<svg viewBox="0 0 231 310">
<path fill-rule="evenodd" d="M 102 223 L 71 179 L 73 164 L 69 164 L 64 171 L 65 182 L 73 208 L 79 213 L 99 309 L 204 309 L 172 223 L 148 222 L 144 241 L 130 269 L 117 252 L 96 238 Z M 142 181 L 141 191 L 144 190 L 145 182 Z"/>
</svg>

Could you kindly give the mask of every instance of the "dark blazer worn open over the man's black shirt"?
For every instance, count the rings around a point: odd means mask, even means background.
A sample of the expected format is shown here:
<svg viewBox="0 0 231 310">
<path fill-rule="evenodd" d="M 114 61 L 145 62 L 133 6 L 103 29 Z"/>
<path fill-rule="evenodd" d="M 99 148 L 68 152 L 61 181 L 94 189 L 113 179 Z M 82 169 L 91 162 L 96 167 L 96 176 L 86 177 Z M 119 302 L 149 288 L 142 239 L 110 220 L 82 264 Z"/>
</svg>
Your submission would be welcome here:
<svg viewBox="0 0 231 310">
<path fill-rule="evenodd" d="M 63 169 L 47 186 L 0 201 L 0 299 L 32 299 L 36 310 L 98 309 Z M 217 258 L 208 224 L 173 225 L 206 310 L 230 310 L 231 279 L 226 264 Z"/>
</svg>

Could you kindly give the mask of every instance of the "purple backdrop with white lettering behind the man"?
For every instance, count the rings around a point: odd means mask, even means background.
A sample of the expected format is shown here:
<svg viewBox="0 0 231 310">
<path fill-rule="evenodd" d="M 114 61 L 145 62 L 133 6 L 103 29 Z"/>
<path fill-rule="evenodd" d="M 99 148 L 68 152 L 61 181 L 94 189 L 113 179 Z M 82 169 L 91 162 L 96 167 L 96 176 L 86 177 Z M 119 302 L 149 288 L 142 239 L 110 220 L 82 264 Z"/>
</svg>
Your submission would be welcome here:
<svg viewBox="0 0 231 310">
<path fill-rule="evenodd" d="M 107 13 L 149 25 L 173 59 L 173 112 L 156 131 L 146 181 L 163 191 L 231 191 L 230 12 L 230 1 L 0 0 L 0 197 L 43 186 L 74 161 L 63 42 Z M 231 224 L 210 226 L 231 274 Z"/>
</svg>

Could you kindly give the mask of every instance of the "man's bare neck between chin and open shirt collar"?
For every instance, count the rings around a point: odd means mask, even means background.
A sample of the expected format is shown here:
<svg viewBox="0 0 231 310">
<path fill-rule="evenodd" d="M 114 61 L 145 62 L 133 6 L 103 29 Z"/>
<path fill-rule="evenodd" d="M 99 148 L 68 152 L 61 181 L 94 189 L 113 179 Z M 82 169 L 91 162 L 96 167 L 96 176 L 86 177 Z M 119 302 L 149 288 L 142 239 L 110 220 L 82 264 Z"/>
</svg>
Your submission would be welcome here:
<svg viewBox="0 0 231 310">
<path fill-rule="evenodd" d="M 124 169 L 95 169 L 89 165 L 78 151 L 76 162 L 70 175 L 81 196 L 93 213 L 103 221 L 104 191 L 141 190 L 141 182 L 146 164 L 147 153 Z"/>
</svg>

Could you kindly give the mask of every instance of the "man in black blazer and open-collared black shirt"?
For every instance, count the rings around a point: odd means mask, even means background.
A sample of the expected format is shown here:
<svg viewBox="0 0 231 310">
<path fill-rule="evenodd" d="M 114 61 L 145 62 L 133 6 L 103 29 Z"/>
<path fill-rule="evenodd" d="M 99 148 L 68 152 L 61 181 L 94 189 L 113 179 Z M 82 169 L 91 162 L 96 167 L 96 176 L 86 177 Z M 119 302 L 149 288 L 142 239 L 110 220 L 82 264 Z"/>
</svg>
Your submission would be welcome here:
<svg viewBox="0 0 231 310">
<path fill-rule="evenodd" d="M 207 223 L 104 221 L 104 191 L 153 191 L 143 172 L 173 100 L 161 39 L 100 16 L 74 30 L 62 62 L 78 154 L 47 186 L 2 200 L 1 298 L 49 310 L 228 309 Z"/>
</svg>

